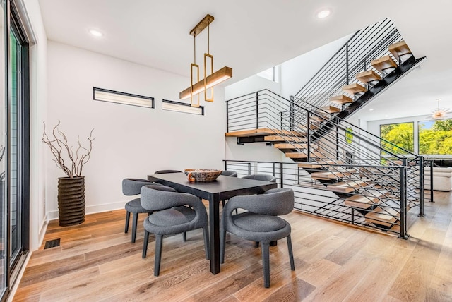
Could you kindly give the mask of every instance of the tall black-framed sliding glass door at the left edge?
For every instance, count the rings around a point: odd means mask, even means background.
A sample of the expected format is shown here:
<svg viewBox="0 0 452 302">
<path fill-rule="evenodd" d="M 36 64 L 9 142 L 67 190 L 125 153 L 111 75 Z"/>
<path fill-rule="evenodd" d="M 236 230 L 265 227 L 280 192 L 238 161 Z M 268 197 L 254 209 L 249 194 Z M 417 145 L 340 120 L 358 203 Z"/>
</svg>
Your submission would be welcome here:
<svg viewBox="0 0 452 302">
<path fill-rule="evenodd" d="M 14 0 L 1 2 L 0 301 L 11 290 L 29 241 L 29 59 Z"/>
</svg>

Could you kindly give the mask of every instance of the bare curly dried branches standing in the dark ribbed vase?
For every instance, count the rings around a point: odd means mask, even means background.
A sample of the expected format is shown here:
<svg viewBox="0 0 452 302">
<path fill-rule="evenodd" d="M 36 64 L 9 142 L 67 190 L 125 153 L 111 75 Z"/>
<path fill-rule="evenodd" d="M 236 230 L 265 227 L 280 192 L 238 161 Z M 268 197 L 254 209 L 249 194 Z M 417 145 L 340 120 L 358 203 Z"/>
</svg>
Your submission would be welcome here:
<svg viewBox="0 0 452 302">
<path fill-rule="evenodd" d="M 69 177 L 81 176 L 83 171 L 83 165 L 90 160 L 91 150 L 93 150 L 93 131 L 91 129 L 90 136 L 88 136 L 88 147 L 83 147 L 80 143 L 80 138 L 77 138 L 77 149 L 73 151 L 73 146 L 69 147 L 68 139 L 66 135 L 58 128 L 61 122 L 58 121 L 57 126 L 54 126 L 51 136 L 47 135 L 45 131 L 44 122 L 44 134 L 42 135 L 42 141 L 46 143 L 52 154 L 54 155 L 53 161 L 57 163 L 57 166 L 64 171 Z M 69 164 L 66 164 L 65 159 Z"/>
</svg>

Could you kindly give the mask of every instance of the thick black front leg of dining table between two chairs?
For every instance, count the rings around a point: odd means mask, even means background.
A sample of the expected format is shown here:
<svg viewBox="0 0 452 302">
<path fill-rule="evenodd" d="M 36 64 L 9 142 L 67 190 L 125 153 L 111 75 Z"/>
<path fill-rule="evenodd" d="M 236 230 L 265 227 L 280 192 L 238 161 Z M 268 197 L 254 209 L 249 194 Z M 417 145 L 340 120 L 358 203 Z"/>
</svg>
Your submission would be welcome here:
<svg viewBox="0 0 452 302">
<path fill-rule="evenodd" d="M 210 272 L 220 272 L 220 200 L 209 198 Z"/>
</svg>

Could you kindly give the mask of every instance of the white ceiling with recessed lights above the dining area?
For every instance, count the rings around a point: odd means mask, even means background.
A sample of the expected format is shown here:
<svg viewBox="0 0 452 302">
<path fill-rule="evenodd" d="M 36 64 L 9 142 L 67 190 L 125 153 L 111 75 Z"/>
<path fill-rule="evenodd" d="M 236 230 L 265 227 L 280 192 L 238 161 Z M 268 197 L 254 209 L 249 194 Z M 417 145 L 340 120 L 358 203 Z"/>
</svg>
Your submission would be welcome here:
<svg viewBox="0 0 452 302">
<path fill-rule="evenodd" d="M 39 0 L 49 40 L 189 77 L 189 31 L 207 13 L 215 70 L 230 66 L 227 84 L 391 18 L 416 57 L 428 60 L 367 105 L 359 118 L 427 115 L 441 98 L 452 107 L 450 0 Z M 326 19 L 316 13 L 330 8 Z M 104 33 L 96 38 L 88 33 Z M 196 60 L 206 33 L 196 37 Z M 185 87 L 181 87 L 183 90 Z"/>
</svg>

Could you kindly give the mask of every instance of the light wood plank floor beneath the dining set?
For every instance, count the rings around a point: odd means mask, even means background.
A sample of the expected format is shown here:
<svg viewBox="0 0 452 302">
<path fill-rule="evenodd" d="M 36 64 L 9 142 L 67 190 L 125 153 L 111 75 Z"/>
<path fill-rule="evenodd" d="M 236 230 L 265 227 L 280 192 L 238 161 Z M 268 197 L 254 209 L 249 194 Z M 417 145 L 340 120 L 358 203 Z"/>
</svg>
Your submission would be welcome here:
<svg viewBox="0 0 452 302">
<path fill-rule="evenodd" d="M 452 198 L 435 197 L 406 241 L 287 215 L 295 272 L 286 241 L 278 241 L 270 247 L 270 289 L 263 287 L 260 249 L 235 236 L 227 238 L 216 275 L 201 231 L 189 232 L 185 243 L 182 235 L 165 238 L 154 277 L 154 244 L 142 259 L 142 224 L 130 243 L 123 210 L 87 215 L 77 227 L 51 222 L 44 242 L 61 238 L 61 246 L 32 253 L 13 301 L 452 301 Z"/>
</svg>

